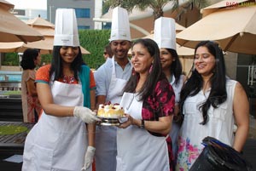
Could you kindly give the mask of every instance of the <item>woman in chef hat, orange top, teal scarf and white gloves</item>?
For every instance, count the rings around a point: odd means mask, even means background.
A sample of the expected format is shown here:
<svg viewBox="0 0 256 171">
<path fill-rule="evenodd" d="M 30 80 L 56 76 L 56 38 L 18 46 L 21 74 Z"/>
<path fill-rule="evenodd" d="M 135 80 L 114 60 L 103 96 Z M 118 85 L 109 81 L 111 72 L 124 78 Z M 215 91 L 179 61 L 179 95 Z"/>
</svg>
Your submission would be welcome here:
<svg viewBox="0 0 256 171">
<path fill-rule="evenodd" d="M 38 69 L 36 83 L 44 111 L 26 137 L 22 170 L 91 170 L 94 125 L 85 123 L 99 121 L 90 110 L 96 85 L 82 59 L 74 9 L 56 10 L 53 60 Z"/>
</svg>

